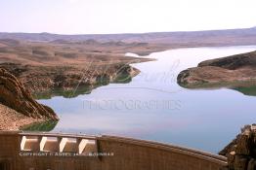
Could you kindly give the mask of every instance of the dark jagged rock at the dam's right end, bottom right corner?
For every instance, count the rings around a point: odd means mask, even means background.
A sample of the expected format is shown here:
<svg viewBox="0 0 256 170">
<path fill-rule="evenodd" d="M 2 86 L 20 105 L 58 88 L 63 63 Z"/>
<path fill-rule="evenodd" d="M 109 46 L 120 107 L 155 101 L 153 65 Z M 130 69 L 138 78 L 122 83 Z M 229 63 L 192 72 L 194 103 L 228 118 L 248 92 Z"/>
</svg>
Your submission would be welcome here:
<svg viewBox="0 0 256 170">
<path fill-rule="evenodd" d="M 228 157 L 230 170 L 256 169 L 256 124 L 245 125 L 241 133 L 220 154 Z"/>
</svg>

